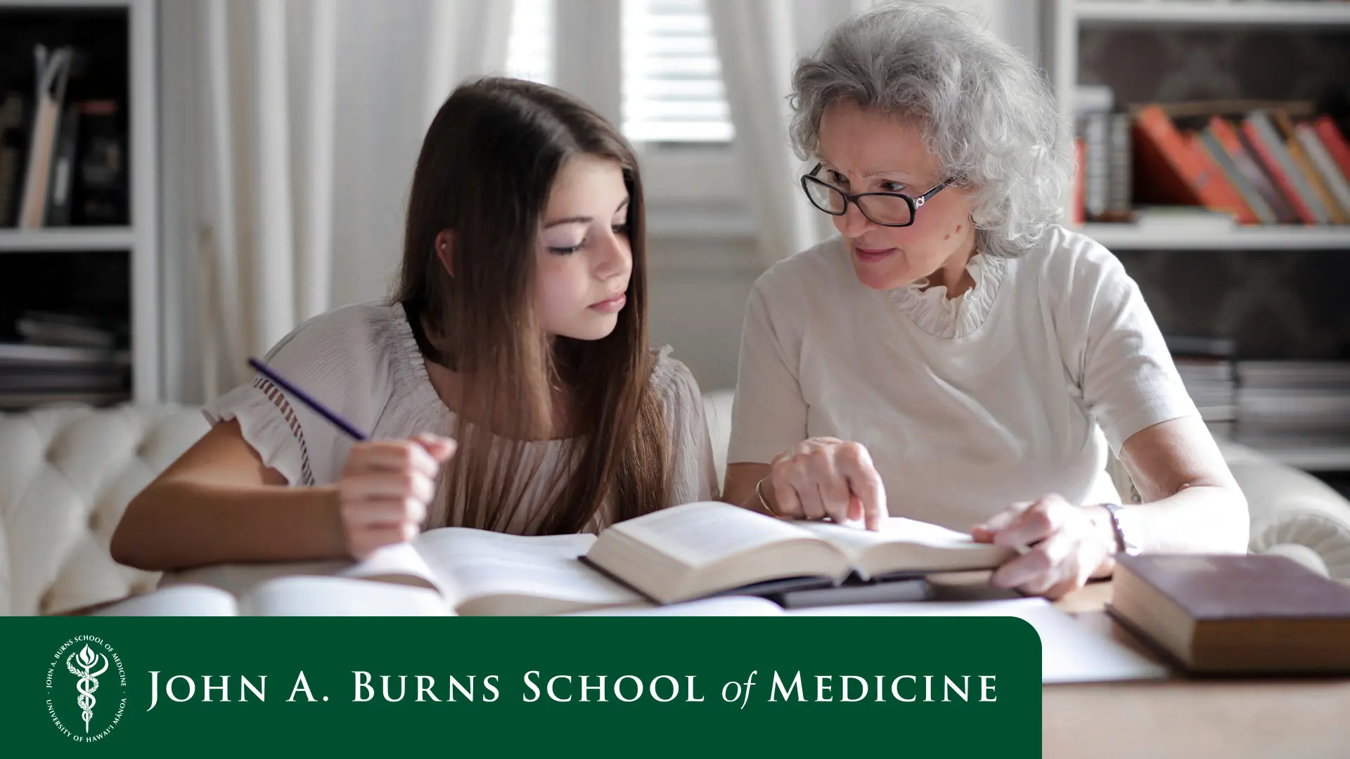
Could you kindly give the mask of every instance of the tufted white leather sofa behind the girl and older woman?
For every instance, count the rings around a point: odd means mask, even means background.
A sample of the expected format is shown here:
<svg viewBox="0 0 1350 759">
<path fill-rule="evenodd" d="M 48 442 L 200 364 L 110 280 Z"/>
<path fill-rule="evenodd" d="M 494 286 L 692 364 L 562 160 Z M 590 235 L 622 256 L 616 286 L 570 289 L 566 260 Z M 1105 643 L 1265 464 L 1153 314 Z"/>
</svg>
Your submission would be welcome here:
<svg viewBox="0 0 1350 759">
<path fill-rule="evenodd" d="M 705 394 L 718 477 L 730 392 Z M 194 407 L 68 407 L 0 413 L 0 614 L 50 614 L 150 590 L 108 542 L 135 493 L 207 431 Z M 1224 448 L 1247 496 L 1254 552 L 1350 578 L 1350 502 L 1256 451 Z"/>
</svg>

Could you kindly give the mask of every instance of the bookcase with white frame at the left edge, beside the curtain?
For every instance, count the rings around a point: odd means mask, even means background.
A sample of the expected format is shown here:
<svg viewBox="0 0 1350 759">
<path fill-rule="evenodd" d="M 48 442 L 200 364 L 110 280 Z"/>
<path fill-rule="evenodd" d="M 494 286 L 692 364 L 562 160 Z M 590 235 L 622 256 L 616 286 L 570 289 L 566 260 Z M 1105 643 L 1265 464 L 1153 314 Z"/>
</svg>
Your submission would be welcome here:
<svg viewBox="0 0 1350 759">
<path fill-rule="evenodd" d="M 96 285 L 103 288 L 97 300 L 112 304 L 107 308 L 119 309 L 119 313 L 109 316 L 127 325 L 126 347 L 131 354 L 130 397 L 135 401 L 155 401 L 161 398 L 155 0 L 0 0 L 0 30 L 8 27 L 5 31 L 16 34 L 15 30 L 20 27 L 36 28 L 39 31 L 35 34 L 40 35 L 45 24 L 51 30 L 51 39 L 46 42 L 49 45 L 78 45 L 93 36 L 99 39 L 97 50 L 117 51 L 112 59 L 119 65 L 111 70 L 104 65 L 96 74 L 100 78 L 126 80 L 115 89 L 126 93 L 126 103 L 119 104 L 119 123 L 124 124 L 126 131 L 127 223 L 109 227 L 76 221 L 77 226 L 0 228 L 0 281 L 16 273 L 38 277 L 34 288 L 18 296 L 8 290 L 3 294 L 18 300 L 34 298 L 32 303 L 20 303 L 9 311 L 46 309 L 53 303 L 39 298 L 61 292 L 66 284 L 74 290 L 68 294 L 70 303 L 81 298 L 78 293 L 84 290 Z M 109 34 L 113 36 L 109 38 Z M 122 38 L 116 38 L 116 34 Z M 99 53 L 90 57 L 90 69 L 99 68 L 97 55 Z M 120 66 L 123 58 L 126 68 Z M 31 70 L 28 73 L 31 76 Z M 9 85 L 14 88 L 15 82 L 11 81 Z M 14 313 L 9 311 L 5 311 L 5 316 L 12 320 Z"/>
</svg>

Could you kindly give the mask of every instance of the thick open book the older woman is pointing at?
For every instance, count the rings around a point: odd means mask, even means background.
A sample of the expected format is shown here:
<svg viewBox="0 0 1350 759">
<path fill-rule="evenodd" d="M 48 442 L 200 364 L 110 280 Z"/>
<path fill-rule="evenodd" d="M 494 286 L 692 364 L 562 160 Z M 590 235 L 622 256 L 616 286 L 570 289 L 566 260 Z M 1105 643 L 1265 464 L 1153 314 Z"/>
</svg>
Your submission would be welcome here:
<svg viewBox="0 0 1350 759">
<path fill-rule="evenodd" d="M 994 569 L 1017 552 L 903 517 L 882 531 L 783 521 L 716 501 L 684 504 L 601 532 L 585 560 L 644 596 L 676 604 L 786 578 L 873 581 Z"/>
</svg>

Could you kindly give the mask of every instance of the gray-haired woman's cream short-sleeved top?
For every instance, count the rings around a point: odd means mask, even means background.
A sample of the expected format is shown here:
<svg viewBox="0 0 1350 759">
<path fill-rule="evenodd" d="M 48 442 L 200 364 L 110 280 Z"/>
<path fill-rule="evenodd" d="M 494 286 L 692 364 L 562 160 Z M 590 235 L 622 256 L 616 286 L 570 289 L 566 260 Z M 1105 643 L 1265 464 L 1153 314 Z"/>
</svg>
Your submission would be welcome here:
<svg viewBox="0 0 1350 759">
<path fill-rule="evenodd" d="M 1058 227 L 1021 258 L 977 254 L 968 270 L 975 288 L 950 300 L 925 282 L 878 292 L 834 238 L 764 273 L 726 461 L 856 440 L 892 515 L 954 529 L 1048 493 L 1119 502 L 1107 447 L 1197 413 L 1138 286 Z"/>
</svg>

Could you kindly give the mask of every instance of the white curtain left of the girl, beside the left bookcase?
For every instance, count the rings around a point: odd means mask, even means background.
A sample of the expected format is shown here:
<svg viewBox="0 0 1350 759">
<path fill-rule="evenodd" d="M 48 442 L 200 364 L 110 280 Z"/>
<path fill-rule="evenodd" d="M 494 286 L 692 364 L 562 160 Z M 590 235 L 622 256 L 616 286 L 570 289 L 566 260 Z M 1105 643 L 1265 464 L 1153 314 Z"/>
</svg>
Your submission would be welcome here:
<svg viewBox="0 0 1350 759">
<path fill-rule="evenodd" d="M 171 400 L 213 397 L 300 321 L 387 293 L 427 124 L 459 81 L 504 68 L 510 11 L 161 5 Z"/>
</svg>

